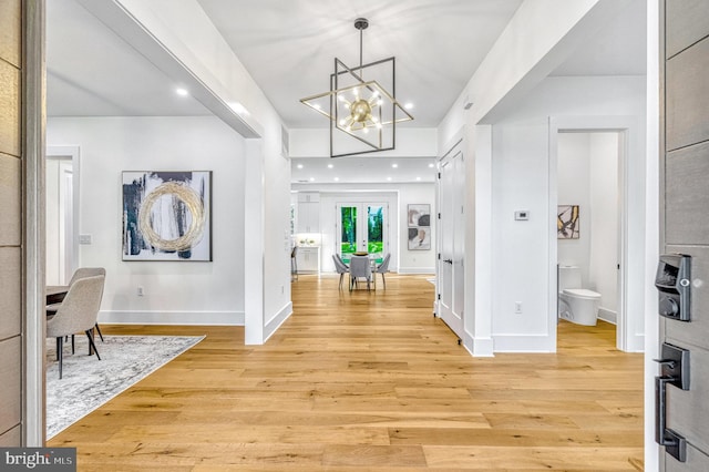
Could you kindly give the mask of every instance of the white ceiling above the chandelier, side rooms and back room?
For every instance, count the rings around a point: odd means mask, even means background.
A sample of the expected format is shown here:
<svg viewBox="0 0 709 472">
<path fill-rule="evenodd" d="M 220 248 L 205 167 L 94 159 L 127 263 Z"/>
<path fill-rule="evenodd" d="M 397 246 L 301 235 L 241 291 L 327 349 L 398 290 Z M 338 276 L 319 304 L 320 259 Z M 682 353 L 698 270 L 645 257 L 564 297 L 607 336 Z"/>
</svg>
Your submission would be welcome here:
<svg viewBox="0 0 709 472">
<path fill-rule="evenodd" d="M 363 33 L 364 62 L 394 55 L 397 98 L 414 104 L 415 121 L 410 125 L 436 126 L 521 4 L 521 0 L 198 2 L 288 127 L 328 125 L 299 99 L 329 89 L 336 57 L 348 65 L 359 63 L 359 32 L 353 27 L 358 17 L 370 22 Z M 49 116 L 210 114 L 197 100 L 177 96 L 178 83 L 76 0 L 51 0 L 47 9 Z M 645 0 L 634 0 L 554 74 L 644 74 L 644 44 Z M 372 175 L 372 165 L 380 165 L 374 164 L 378 160 L 363 160 L 333 161 L 342 168 L 340 182 L 362 182 L 363 175 Z M 332 182 L 326 161 L 310 165 L 312 174 L 294 167 L 292 182 L 311 176 Z M 427 178 L 414 162 L 411 175 L 403 177 L 409 171 L 399 160 L 401 179 Z M 294 160 L 294 166 L 298 163 Z M 388 174 L 391 163 L 381 160 L 377 173 Z M 322 174 L 316 175 L 315 167 Z"/>
</svg>

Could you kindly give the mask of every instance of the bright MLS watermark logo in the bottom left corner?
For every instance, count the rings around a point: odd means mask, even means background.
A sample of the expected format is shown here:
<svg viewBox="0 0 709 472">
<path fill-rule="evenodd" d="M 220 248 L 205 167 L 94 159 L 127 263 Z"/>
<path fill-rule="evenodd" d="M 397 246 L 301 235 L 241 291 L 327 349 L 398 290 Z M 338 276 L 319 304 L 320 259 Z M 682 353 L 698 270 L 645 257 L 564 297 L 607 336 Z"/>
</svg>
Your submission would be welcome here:
<svg viewBox="0 0 709 472">
<path fill-rule="evenodd" d="M 0 448 L 3 471 L 76 471 L 76 448 Z"/>
</svg>

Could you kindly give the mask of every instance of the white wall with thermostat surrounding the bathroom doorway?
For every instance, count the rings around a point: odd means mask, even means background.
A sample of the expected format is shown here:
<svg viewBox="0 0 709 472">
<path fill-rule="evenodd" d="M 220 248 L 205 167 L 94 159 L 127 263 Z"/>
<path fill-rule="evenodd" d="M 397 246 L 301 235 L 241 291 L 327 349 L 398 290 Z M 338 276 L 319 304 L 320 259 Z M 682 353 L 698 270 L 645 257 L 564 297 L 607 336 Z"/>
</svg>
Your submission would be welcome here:
<svg viewBox="0 0 709 472">
<path fill-rule="evenodd" d="M 549 116 L 593 116 L 595 122 L 607 116 L 609 123 L 614 116 L 629 117 L 628 133 L 638 144 L 628 156 L 634 182 L 628 187 L 628 213 L 640 218 L 639 224 L 629 225 L 639 228 L 630 236 L 640 237 L 644 232 L 645 78 L 547 78 L 514 113 L 493 126 L 492 317 L 496 351 L 555 350 L 555 316 L 549 315 L 555 315 L 556 297 L 551 296 L 555 280 L 548 275 L 554 255 L 547 249 L 555 220 L 549 196 L 556 193 L 549 187 L 556 182 L 548 178 Z M 528 222 L 512 218 L 514 209 L 522 208 L 531 211 Z M 643 254 L 643 247 L 641 240 L 633 239 L 630 250 L 637 254 L 631 254 L 630 260 Z M 636 287 L 629 289 L 637 291 Z M 522 314 L 514 314 L 515 301 L 522 301 Z M 641 311 L 641 306 L 636 309 Z"/>
</svg>

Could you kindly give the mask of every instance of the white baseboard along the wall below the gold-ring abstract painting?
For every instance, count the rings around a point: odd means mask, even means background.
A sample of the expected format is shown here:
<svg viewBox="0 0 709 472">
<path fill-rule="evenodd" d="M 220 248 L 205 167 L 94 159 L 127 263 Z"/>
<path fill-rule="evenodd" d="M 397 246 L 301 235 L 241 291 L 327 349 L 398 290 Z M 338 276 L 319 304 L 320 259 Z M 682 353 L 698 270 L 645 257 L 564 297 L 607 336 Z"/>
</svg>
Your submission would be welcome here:
<svg viewBox="0 0 709 472">
<path fill-rule="evenodd" d="M 107 325 L 244 326 L 244 311 L 100 311 Z"/>
</svg>

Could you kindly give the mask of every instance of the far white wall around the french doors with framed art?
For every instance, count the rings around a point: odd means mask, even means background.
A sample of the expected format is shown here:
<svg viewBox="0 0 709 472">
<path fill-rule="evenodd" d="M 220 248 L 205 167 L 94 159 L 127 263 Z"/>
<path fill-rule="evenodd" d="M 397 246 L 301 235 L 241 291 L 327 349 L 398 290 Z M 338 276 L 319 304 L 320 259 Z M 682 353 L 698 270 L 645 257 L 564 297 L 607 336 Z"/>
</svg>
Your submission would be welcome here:
<svg viewBox="0 0 709 472">
<path fill-rule="evenodd" d="M 321 270 L 335 271 L 336 209 L 340 202 L 388 202 L 390 222 L 390 270 L 400 274 L 433 274 L 435 271 L 435 186 L 421 184 L 294 184 L 294 191 L 320 192 Z M 407 205 L 431 205 L 431 249 L 409 250 L 407 239 Z"/>
</svg>

